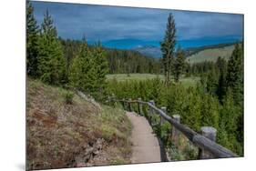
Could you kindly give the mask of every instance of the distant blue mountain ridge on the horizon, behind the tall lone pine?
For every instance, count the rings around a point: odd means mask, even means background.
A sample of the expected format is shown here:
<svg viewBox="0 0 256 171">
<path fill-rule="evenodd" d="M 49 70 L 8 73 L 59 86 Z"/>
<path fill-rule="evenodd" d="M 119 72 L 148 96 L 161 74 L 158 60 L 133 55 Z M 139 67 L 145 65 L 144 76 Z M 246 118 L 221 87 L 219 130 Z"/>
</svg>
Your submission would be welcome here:
<svg viewBox="0 0 256 171">
<path fill-rule="evenodd" d="M 177 46 L 181 45 L 181 47 L 183 47 L 186 57 L 190 57 L 190 56 L 195 57 L 201 51 L 204 51 L 206 49 L 223 48 L 225 46 L 234 45 L 235 43 L 241 42 L 240 40 L 241 39 L 220 39 L 219 41 L 217 39 L 181 40 L 177 42 Z M 114 40 L 108 40 L 108 41 L 102 42 L 102 45 L 108 49 L 120 49 L 120 50 L 123 49 L 123 50 L 137 51 L 142 55 L 146 55 L 148 57 L 153 57 L 157 59 L 159 59 L 162 56 L 162 53 L 160 50 L 160 42 L 154 41 L 154 40 L 147 41 L 147 40 L 139 40 L 139 39 L 132 39 L 132 38 L 117 39 L 117 40 L 114 39 Z M 217 52 L 218 50 L 214 50 L 214 51 Z M 221 55 L 221 54 L 222 53 L 218 51 L 217 55 Z M 206 55 L 208 55 L 208 53 Z M 214 54 L 211 54 L 210 56 L 212 55 Z M 200 56 L 200 58 L 204 58 L 204 57 L 207 58 L 208 56 Z M 191 59 L 191 61 L 194 61 L 194 60 Z"/>
</svg>

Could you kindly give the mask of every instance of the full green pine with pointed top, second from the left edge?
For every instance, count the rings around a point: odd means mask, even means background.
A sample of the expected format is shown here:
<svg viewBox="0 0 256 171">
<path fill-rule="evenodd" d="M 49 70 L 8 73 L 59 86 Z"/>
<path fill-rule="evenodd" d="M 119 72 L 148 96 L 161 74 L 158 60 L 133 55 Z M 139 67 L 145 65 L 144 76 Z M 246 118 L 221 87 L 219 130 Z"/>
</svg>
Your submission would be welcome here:
<svg viewBox="0 0 256 171">
<path fill-rule="evenodd" d="M 44 22 L 41 25 L 39 38 L 39 65 L 40 79 L 47 84 L 63 83 L 65 75 L 65 59 L 62 46 L 57 39 L 56 27 L 53 19 L 46 11 Z"/>
</svg>

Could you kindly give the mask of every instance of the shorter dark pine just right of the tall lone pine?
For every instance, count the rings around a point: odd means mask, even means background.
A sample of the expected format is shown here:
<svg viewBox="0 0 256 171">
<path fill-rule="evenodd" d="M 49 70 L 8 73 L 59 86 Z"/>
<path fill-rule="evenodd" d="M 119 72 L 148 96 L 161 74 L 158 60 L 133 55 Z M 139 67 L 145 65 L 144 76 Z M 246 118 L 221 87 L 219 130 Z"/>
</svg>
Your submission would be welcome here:
<svg viewBox="0 0 256 171">
<path fill-rule="evenodd" d="M 174 75 L 174 80 L 176 82 L 179 82 L 179 77 L 181 74 L 183 74 L 185 69 L 185 57 L 184 57 L 184 52 L 181 50 L 181 48 L 178 48 L 177 51 L 177 57 L 174 60 L 174 67 L 173 67 L 173 75 Z"/>
</svg>

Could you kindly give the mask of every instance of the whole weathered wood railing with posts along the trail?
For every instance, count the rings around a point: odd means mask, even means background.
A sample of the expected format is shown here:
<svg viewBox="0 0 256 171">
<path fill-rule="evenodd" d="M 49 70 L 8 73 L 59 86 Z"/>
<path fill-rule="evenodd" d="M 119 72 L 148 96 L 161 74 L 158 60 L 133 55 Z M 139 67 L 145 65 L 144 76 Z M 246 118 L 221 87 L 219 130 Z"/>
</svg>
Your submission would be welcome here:
<svg viewBox="0 0 256 171">
<path fill-rule="evenodd" d="M 114 99 L 114 101 L 120 102 L 122 106 L 124 106 L 124 108 L 129 111 L 133 110 L 131 104 L 138 104 L 138 114 L 143 113 L 143 105 L 149 106 L 149 110 L 151 110 L 151 115 L 153 114 L 152 111 L 155 111 L 155 113 L 160 116 L 160 124 L 162 124 L 165 121 L 168 121 L 173 126 L 171 134 L 171 139 L 173 141 L 177 141 L 176 137 L 179 135 L 179 132 L 181 132 L 184 136 L 186 136 L 189 139 L 190 142 L 192 142 L 195 146 L 198 146 L 200 148 L 199 158 L 226 158 L 237 156 L 229 149 L 220 146 L 215 142 L 217 131 L 214 127 L 203 126 L 201 127 L 201 134 L 199 134 L 192 130 L 191 128 L 189 128 L 189 126 L 180 124 L 179 115 L 173 115 L 172 117 L 168 116 L 166 107 L 162 106 L 161 109 L 159 109 L 157 106 L 155 106 L 153 100 L 150 100 L 149 102 L 144 102 L 141 100 L 141 98 L 138 98 L 138 100 Z"/>
</svg>

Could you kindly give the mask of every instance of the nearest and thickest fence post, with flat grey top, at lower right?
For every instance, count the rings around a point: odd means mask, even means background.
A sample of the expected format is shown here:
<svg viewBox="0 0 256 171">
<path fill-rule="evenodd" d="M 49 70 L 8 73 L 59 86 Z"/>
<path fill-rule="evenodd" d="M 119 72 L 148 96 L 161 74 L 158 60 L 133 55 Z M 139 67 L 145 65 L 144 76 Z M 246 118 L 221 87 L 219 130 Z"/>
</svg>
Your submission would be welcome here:
<svg viewBox="0 0 256 171">
<path fill-rule="evenodd" d="M 209 138 L 211 141 L 216 141 L 216 135 L 217 135 L 217 130 L 214 127 L 211 126 L 202 126 L 200 128 L 201 135 Z M 200 148 L 200 153 L 199 153 L 200 159 L 208 159 L 208 158 L 214 158 L 209 152 L 204 150 L 203 148 Z"/>
</svg>

